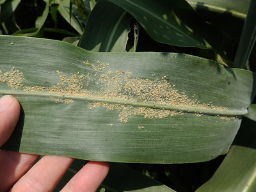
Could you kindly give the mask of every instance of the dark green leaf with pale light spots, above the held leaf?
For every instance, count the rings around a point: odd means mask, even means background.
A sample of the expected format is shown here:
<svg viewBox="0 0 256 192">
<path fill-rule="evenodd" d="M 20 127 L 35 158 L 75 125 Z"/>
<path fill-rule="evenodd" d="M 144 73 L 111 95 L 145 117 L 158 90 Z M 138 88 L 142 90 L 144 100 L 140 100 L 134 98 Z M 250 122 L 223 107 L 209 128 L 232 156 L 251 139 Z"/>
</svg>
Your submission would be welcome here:
<svg viewBox="0 0 256 192">
<path fill-rule="evenodd" d="M 221 45 L 221 31 L 207 24 L 184 0 L 111 0 L 111 2 L 131 13 L 148 35 L 158 42 L 213 49 L 216 49 L 218 44 Z"/>
</svg>

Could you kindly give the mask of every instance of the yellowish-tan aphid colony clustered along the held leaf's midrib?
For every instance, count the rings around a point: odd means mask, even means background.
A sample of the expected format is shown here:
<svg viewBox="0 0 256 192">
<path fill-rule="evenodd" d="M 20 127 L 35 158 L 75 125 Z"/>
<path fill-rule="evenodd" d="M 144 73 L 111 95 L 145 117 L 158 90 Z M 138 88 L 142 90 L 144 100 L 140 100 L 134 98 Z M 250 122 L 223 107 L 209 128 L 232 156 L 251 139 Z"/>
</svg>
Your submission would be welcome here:
<svg viewBox="0 0 256 192">
<path fill-rule="evenodd" d="M 14 67 L 8 72 L 0 71 L 0 81 L 8 83 L 12 90 L 23 89 L 24 92 L 49 93 L 50 99 L 65 102 L 65 104 L 74 102 L 76 98 L 92 100 L 93 102 L 88 104 L 89 109 L 103 107 L 116 110 L 119 112 L 120 122 L 128 122 L 129 117 L 136 115 L 144 118 L 183 115 L 182 110 L 163 109 L 156 106 L 225 109 L 216 108 L 212 104 L 200 104 L 196 100 L 189 99 L 185 93 L 180 94 L 166 76 L 161 79 L 157 77 L 141 79 L 132 77 L 131 72 L 125 72 L 122 69 L 110 70 L 108 63 L 98 61 L 97 65 L 93 65 L 86 61 L 84 65 L 88 67 L 87 74 L 76 72 L 67 75 L 56 70 L 54 73 L 58 75 L 59 82 L 52 86 L 23 86 L 26 79 L 23 73 L 15 70 Z M 195 114 L 201 116 L 198 113 Z"/>
</svg>

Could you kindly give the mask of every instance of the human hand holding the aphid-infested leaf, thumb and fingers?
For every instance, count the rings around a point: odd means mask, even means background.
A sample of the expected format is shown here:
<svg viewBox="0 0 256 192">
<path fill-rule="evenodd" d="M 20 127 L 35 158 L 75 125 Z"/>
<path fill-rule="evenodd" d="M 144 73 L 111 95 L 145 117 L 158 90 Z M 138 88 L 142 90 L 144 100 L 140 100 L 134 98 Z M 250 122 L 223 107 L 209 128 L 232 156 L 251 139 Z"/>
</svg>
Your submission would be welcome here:
<svg viewBox="0 0 256 192">
<path fill-rule="evenodd" d="M 10 138 L 20 115 L 17 99 L 0 99 L 0 146 Z M 70 157 L 44 156 L 0 150 L 0 191 L 52 191 L 74 161 Z M 96 191 L 106 177 L 109 164 L 90 161 L 61 191 Z"/>
</svg>

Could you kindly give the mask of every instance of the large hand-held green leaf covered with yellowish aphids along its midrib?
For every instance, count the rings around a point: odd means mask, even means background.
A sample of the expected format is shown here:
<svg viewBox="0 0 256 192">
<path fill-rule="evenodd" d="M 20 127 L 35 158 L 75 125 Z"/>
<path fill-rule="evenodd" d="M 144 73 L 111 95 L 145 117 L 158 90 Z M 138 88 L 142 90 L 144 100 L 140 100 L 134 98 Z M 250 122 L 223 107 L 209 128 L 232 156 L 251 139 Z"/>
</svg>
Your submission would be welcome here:
<svg viewBox="0 0 256 192">
<path fill-rule="evenodd" d="M 22 105 L 8 150 L 207 161 L 228 152 L 255 96 L 252 72 L 186 54 L 90 52 L 19 36 L 0 42 L 0 96 L 12 94 Z"/>
</svg>

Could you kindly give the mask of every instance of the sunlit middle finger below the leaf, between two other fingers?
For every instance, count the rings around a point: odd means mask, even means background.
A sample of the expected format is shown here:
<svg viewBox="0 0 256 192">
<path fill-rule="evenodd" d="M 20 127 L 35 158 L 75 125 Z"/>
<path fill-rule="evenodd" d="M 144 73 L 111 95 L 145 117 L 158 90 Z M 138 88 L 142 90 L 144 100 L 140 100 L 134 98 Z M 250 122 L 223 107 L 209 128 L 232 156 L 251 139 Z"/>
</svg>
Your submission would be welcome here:
<svg viewBox="0 0 256 192">
<path fill-rule="evenodd" d="M 10 191 L 52 191 L 73 161 L 70 157 L 44 156 Z"/>
</svg>

